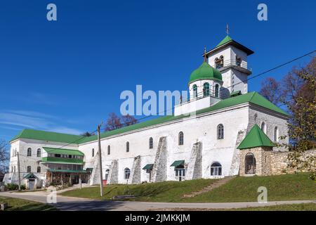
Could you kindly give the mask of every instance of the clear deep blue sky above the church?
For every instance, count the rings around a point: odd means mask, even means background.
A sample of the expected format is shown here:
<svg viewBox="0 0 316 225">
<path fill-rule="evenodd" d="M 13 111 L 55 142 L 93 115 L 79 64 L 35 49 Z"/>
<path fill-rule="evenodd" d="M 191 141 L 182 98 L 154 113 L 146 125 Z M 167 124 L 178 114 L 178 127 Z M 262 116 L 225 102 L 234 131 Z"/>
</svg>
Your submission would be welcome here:
<svg viewBox="0 0 316 225">
<path fill-rule="evenodd" d="M 46 20 L 54 3 L 58 20 Z M 257 6 L 268 6 L 268 21 Z M 253 75 L 315 49 L 315 1 L 4 1 L 0 139 L 23 128 L 79 134 L 119 113 L 121 91 L 186 90 L 192 70 L 230 36 L 255 51 Z M 252 79 L 281 79 L 304 58 Z"/>
</svg>

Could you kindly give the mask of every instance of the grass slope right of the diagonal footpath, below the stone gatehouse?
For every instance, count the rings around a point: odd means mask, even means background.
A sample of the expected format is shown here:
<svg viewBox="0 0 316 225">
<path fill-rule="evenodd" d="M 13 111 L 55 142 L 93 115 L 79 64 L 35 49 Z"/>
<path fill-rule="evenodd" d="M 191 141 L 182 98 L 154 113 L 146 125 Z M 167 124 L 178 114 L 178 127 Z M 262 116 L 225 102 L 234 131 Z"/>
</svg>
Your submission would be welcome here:
<svg viewBox="0 0 316 225">
<path fill-rule="evenodd" d="M 227 184 L 212 191 L 188 198 L 185 202 L 255 202 L 259 186 L 268 189 L 268 201 L 315 200 L 316 182 L 308 174 L 284 174 L 277 176 L 237 176 Z"/>
</svg>

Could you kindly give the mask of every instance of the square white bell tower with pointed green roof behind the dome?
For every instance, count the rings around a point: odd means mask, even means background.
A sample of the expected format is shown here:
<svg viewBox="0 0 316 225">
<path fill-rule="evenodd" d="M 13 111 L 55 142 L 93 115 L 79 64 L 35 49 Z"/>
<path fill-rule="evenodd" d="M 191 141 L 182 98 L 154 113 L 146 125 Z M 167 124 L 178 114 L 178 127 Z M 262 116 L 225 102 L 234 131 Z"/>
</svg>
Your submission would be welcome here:
<svg viewBox="0 0 316 225">
<path fill-rule="evenodd" d="M 211 67 L 220 71 L 223 77 L 221 94 L 223 98 L 228 98 L 230 94 L 237 91 L 245 94 L 248 92 L 247 77 L 251 75 L 247 57 L 254 51 L 246 48 L 242 44 L 233 40 L 228 35 L 220 43 L 203 56 Z"/>
</svg>

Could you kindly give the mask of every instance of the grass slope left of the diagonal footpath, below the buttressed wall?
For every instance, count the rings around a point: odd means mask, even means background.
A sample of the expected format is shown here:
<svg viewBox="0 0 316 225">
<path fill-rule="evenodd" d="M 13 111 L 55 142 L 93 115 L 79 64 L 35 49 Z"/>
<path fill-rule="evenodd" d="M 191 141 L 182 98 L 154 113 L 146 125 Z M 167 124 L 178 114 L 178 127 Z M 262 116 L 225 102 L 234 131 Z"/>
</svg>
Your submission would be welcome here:
<svg viewBox="0 0 316 225">
<path fill-rule="evenodd" d="M 129 186 L 124 184 L 108 185 L 104 187 L 103 199 L 110 199 L 115 195 L 136 195 L 138 197 L 131 200 L 175 202 L 179 201 L 183 194 L 199 191 L 214 181 L 216 180 L 197 179 L 194 181 L 165 181 L 151 184 L 133 184 Z M 65 191 L 60 193 L 60 195 L 100 199 L 100 186 Z"/>
</svg>

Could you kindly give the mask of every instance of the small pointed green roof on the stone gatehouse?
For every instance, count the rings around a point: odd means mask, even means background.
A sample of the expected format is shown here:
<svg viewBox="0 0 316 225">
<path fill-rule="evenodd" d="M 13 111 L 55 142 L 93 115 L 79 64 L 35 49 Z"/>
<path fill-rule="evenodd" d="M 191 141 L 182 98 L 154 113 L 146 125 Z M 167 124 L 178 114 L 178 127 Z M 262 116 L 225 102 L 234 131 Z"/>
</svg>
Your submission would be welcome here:
<svg viewBox="0 0 316 225">
<path fill-rule="evenodd" d="M 254 124 L 254 127 L 251 128 L 249 133 L 246 135 L 244 140 L 237 147 L 238 149 L 245 148 L 255 148 L 260 146 L 274 147 L 275 145 L 268 138 L 267 135 L 258 127 L 257 124 Z"/>
</svg>

